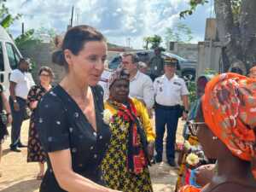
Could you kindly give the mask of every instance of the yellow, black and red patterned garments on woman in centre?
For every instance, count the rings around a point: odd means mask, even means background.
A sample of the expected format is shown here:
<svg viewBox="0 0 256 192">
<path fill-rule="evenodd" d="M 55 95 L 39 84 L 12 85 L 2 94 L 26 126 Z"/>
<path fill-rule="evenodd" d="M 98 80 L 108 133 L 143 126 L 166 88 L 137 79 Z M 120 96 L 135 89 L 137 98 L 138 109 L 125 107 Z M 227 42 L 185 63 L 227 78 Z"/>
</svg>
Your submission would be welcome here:
<svg viewBox="0 0 256 192">
<path fill-rule="evenodd" d="M 138 126 L 145 131 L 148 142 L 154 142 L 154 132 L 143 103 L 137 99 L 128 99 L 128 102 L 129 105 L 110 99 L 105 102 L 105 110 L 111 113 L 112 137 L 102 160 L 103 180 L 111 189 L 152 192 L 148 160 Z"/>
</svg>

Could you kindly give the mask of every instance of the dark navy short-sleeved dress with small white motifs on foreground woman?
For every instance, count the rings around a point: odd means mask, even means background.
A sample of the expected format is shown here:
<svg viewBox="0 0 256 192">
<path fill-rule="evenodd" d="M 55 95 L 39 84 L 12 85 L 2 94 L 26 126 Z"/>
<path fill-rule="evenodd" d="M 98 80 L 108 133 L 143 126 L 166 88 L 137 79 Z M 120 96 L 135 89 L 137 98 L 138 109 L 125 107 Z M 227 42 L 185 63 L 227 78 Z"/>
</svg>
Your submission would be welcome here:
<svg viewBox="0 0 256 192">
<path fill-rule="evenodd" d="M 45 94 L 37 111 L 39 139 L 47 153 L 69 148 L 74 172 L 103 184 L 100 164 L 108 148 L 110 130 L 103 122 L 102 87 L 91 87 L 96 109 L 97 131 L 90 125 L 73 98 L 60 85 Z M 64 192 L 55 179 L 47 157 L 48 169 L 40 192 Z"/>
</svg>

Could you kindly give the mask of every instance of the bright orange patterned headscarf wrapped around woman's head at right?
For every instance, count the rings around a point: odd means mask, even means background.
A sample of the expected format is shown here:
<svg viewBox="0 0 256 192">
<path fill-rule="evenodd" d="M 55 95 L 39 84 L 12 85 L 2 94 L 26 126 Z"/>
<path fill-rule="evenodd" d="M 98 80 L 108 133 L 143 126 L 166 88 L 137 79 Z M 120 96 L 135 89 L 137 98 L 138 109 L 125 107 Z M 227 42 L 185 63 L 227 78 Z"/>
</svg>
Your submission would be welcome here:
<svg viewBox="0 0 256 192">
<path fill-rule="evenodd" d="M 256 79 L 223 73 L 207 83 L 202 110 L 208 127 L 256 177 Z"/>
</svg>

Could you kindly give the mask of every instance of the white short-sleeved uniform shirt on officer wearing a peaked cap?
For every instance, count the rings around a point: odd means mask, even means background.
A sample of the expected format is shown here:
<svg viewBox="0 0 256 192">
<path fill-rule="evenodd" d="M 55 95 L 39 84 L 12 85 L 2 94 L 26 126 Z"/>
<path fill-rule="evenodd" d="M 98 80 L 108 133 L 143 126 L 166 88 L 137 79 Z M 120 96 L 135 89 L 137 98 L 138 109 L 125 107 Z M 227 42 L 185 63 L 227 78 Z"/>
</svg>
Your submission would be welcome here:
<svg viewBox="0 0 256 192">
<path fill-rule="evenodd" d="M 162 75 L 154 80 L 155 102 L 163 106 L 182 104 L 182 96 L 189 95 L 186 83 L 175 74 L 172 79 Z"/>
</svg>

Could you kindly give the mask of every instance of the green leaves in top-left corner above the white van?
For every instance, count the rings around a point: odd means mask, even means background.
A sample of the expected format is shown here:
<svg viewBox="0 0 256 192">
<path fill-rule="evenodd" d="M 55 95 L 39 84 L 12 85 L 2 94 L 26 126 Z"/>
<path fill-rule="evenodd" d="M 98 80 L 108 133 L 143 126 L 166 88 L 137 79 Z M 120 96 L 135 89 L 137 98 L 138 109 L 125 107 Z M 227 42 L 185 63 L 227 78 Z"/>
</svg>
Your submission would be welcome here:
<svg viewBox="0 0 256 192">
<path fill-rule="evenodd" d="M 5 7 L 4 2 L 6 1 L 0 1 L 0 25 L 3 26 L 3 28 L 9 28 L 9 26 L 11 26 L 15 20 L 20 19 L 21 15 L 11 15 L 9 13 L 9 9 Z"/>
</svg>

